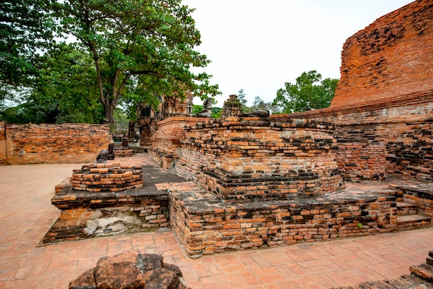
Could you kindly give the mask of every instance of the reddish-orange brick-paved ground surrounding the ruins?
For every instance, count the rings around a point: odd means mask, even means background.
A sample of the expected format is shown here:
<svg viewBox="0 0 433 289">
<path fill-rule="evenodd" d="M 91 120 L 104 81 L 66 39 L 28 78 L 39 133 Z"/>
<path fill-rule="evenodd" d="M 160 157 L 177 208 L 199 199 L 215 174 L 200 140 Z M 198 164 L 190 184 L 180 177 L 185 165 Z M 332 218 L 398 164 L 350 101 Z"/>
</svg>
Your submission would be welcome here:
<svg viewBox="0 0 433 289">
<path fill-rule="evenodd" d="M 133 158 L 143 165 L 145 158 Z M 129 160 L 129 161 L 131 161 Z M 116 160 L 117 161 L 117 160 Z M 59 210 L 54 187 L 80 164 L 0 166 L 0 289 L 67 288 L 104 256 L 162 254 L 191 288 L 332 288 L 409 274 L 433 249 L 433 227 L 189 259 L 171 231 L 37 247 Z"/>
</svg>

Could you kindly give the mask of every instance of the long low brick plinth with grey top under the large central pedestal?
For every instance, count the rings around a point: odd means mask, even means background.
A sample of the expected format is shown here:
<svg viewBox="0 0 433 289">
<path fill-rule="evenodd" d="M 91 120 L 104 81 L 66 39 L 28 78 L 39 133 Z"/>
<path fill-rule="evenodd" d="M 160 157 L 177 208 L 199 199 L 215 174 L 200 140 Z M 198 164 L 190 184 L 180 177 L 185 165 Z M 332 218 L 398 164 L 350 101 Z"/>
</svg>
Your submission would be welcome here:
<svg viewBox="0 0 433 289">
<path fill-rule="evenodd" d="M 391 191 L 392 189 L 380 189 Z M 298 201 L 224 203 L 213 194 L 169 194 L 170 225 L 189 257 L 225 250 L 329 241 L 396 230 L 395 197 L 342 189 Z"/>
</svg>

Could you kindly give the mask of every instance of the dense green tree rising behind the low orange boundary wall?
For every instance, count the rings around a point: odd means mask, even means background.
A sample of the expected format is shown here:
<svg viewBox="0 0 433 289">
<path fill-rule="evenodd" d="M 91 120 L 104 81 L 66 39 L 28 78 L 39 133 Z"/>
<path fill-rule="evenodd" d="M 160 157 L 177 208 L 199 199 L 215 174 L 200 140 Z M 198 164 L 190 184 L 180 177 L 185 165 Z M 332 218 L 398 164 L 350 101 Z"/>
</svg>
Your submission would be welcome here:
<svg viewBox="0 0 433 289">
<path fill-rule="evenodd" d="M 100 123 L 103 107 L 92 59 L 73 44 L 58 44 L 34 64 L 38 71 L 28 95 L 0 118 L 15 123 Z"/>
</svg>

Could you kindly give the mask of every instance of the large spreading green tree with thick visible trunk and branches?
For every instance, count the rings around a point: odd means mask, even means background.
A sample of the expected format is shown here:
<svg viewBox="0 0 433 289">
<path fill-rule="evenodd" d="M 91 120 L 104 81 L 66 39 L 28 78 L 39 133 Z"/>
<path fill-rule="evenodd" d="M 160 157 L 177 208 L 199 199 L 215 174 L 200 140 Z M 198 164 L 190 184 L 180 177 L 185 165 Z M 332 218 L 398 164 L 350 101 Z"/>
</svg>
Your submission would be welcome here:
<svg viewBox="0 0 433 289">
<path fill-rule="evenodd" d="M 104 122 L 122 97 L 136 94 L 142 76 L 151 77 L 147 90 L 154 94 L 215 95 L 210 75 L 194 74 L 191 66 L 209 60 L 194 50 L 200 33 L 181 0 L 65 0 L 55 12 L 62 30 L 73 35 L 93 57 Z M 156 85 L 158 84 L 158 85 Z"/>
</svg>

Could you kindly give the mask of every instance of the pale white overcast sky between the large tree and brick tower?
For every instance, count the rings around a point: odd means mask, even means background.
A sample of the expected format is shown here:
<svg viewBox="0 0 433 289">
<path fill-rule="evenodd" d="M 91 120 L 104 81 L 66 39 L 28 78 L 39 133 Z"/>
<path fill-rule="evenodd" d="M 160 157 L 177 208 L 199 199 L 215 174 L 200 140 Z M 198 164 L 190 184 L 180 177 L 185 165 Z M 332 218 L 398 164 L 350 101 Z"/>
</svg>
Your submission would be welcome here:
<svg viewBox="0 0 433 289">
<path fill-rule="evenodd" d="M 222 107 L 243 89 L 252 104 L 258 95 L 271 102 L 284 82 L 295 83 L 304 71 L 340 78 L 342 46 L 348 37 L 410 0 L 182 0 L 196 8 L 192 17 L 201 32 L 200 53 L 212 63 L 223 93 Z M 199 99 L 195 104 L 201 104 Z"/>
</svg>

